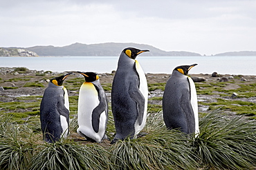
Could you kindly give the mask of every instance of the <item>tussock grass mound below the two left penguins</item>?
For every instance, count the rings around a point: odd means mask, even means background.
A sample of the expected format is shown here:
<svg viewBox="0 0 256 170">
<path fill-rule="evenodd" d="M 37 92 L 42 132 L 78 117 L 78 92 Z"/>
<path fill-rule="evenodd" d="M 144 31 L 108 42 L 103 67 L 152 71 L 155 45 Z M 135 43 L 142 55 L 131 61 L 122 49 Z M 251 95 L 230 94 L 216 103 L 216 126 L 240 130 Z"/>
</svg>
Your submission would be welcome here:
<svg viewBox="0 0 256 170">
<path fill-rule="evenodd" d="M 109 169 L 106 159 L 107 151 L 98 145 L 78 145 L 66 140 L 46 143 L 33 158 L 30 169 Z"/>
</svg>

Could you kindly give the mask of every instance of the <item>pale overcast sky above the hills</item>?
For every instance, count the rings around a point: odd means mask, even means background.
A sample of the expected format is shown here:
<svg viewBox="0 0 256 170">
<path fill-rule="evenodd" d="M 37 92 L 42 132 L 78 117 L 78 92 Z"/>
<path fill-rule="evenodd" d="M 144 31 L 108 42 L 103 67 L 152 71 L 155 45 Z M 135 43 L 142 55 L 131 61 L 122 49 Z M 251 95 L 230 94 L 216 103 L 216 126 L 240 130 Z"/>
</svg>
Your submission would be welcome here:
<svg viewBox="0 0 256 170">
<path fill-rule="evenodd" d="M 0 0 L 0 47 L 143 43 L 256 51 L 256 0 Z"/>
</svg>

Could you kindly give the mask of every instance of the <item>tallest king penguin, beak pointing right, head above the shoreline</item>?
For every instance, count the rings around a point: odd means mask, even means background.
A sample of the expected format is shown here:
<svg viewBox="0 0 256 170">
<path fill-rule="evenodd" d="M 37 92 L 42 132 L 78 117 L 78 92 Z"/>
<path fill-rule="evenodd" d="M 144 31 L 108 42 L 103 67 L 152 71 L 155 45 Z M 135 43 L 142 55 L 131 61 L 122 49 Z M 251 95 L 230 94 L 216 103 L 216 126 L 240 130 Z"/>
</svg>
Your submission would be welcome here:
<svg viewBox="0 0 256 170">
<path fill-rule="evenodd" d="M 120 54 L 111 89 L 111 107 L 116 127 L 116 140 L 136 138 L 147 118 L 147 79 L 136 56 L 149 50 L 125 48 Z"/>
</svg>

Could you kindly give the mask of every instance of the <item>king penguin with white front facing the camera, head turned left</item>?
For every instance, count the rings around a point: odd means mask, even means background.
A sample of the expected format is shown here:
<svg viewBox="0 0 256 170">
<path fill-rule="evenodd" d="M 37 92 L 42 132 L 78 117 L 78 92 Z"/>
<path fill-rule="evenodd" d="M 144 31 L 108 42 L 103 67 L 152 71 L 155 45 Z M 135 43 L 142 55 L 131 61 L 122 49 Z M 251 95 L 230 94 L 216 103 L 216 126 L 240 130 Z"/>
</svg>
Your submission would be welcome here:
<svg viewBox="0 0 256 170">
<path fill-rule="evenodd" d="M 102 142 L 108 117 L 107 96 L 102 88 L 99 76 L 93 72 L 78 72 L 85 82 L 80 87 L 78 98 L 77 133 L 93 142 Z"/>
</svg>

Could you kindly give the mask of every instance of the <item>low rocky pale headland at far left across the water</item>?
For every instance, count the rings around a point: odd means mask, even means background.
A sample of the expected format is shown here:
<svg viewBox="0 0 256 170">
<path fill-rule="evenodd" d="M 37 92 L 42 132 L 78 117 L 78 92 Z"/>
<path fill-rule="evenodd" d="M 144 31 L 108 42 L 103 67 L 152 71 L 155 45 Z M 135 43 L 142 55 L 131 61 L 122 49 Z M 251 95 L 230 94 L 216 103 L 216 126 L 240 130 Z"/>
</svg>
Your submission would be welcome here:
<svg viewBox="0 0 256 170">
<path fill-rule="evenodd" d="M 35 52 L 20 48 L 0 47 L 0 56 L 38 56 Z"/>
</svg>

